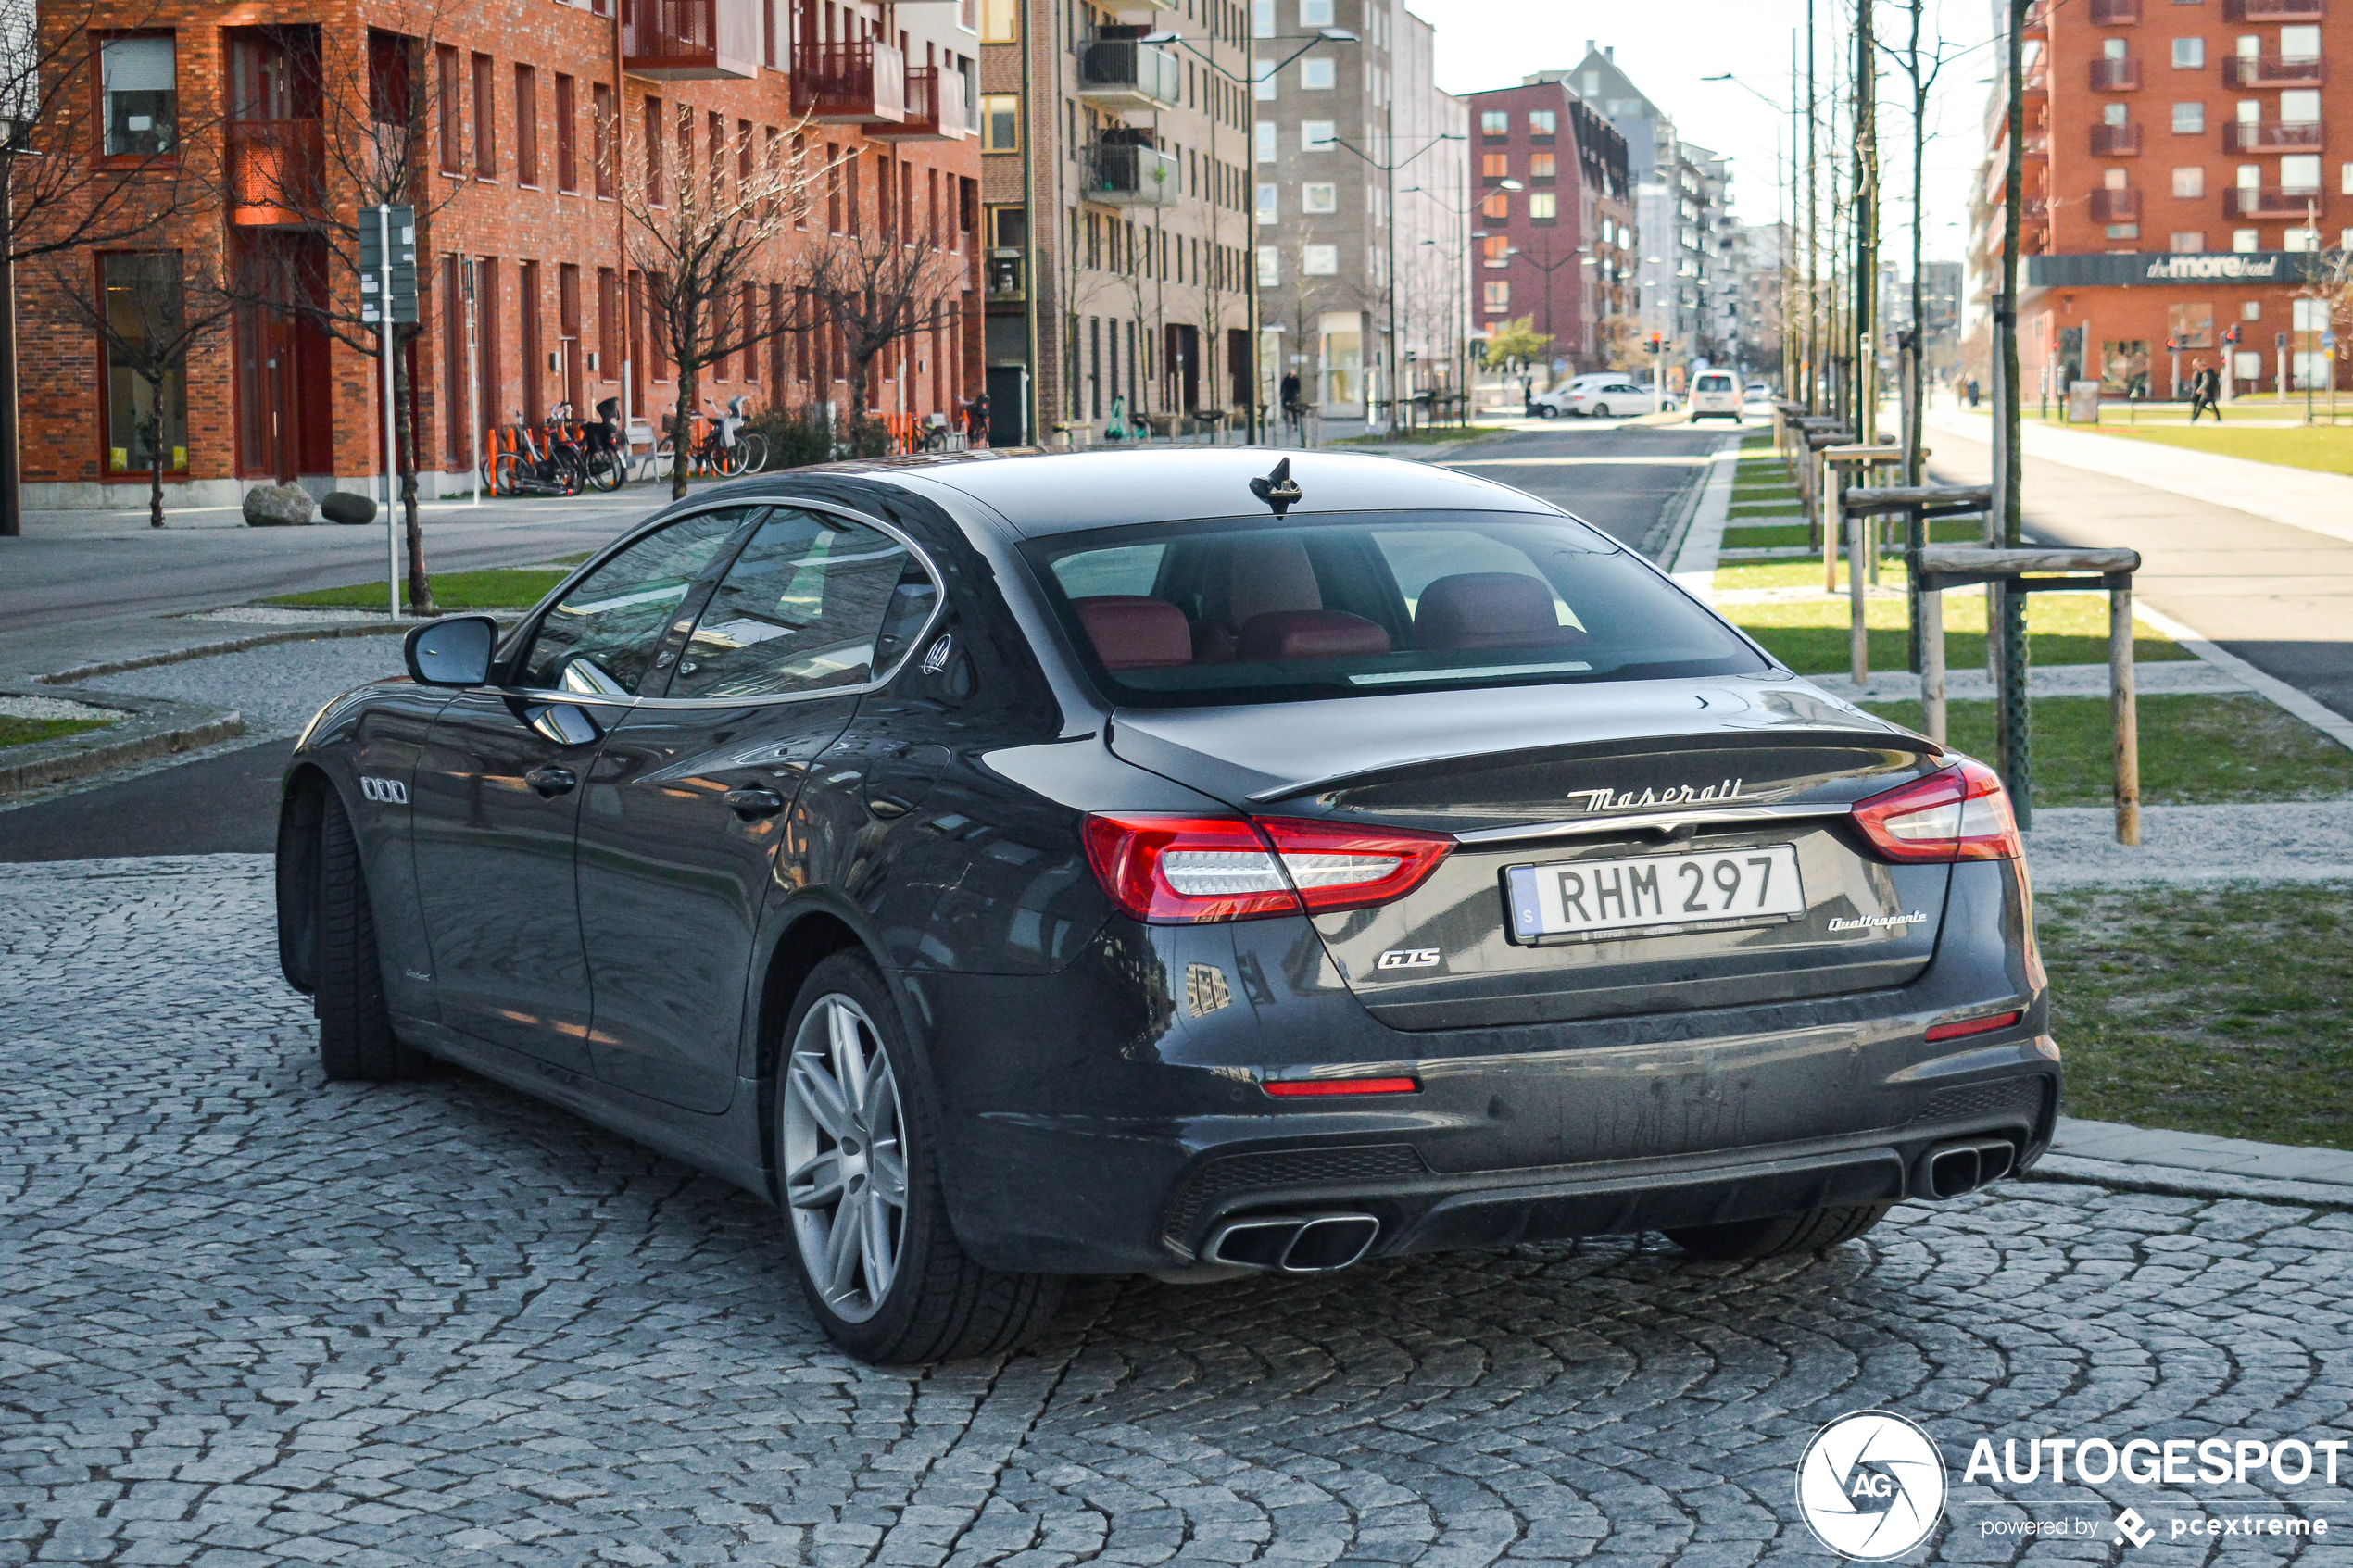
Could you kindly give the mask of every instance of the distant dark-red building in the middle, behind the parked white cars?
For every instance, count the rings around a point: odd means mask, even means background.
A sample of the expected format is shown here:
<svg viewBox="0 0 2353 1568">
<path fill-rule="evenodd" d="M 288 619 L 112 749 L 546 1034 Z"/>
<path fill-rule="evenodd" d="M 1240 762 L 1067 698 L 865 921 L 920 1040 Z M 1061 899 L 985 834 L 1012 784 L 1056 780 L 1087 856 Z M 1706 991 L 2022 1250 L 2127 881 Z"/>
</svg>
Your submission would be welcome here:
<svg viewBox="0 0 2353 1568">
<path fill-rule="evenodd" d="M 1626 136 L 1548 71 L 1466 94 L 1478 233 L 1478 322 L 1532 315 L 1572 371 L 1631 348 L 1638 310 Z"/>
</svg>

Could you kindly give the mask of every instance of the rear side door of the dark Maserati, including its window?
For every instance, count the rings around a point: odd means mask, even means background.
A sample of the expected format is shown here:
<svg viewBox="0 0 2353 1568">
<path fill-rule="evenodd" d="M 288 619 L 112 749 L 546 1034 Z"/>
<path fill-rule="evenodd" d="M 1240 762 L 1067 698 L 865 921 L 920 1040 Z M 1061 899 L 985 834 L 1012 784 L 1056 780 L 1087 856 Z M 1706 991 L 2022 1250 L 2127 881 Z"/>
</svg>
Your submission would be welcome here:
<svg viewBox="0 0 2353 1568">
<path fill-rule="evenodd" d="M 896 534 L 774 508 L 701 607 L 664 696 L 607 736 L 579 825 L 600 1079 L 727 1107 L 793 799 L 936 602 Z"/>
</svg>

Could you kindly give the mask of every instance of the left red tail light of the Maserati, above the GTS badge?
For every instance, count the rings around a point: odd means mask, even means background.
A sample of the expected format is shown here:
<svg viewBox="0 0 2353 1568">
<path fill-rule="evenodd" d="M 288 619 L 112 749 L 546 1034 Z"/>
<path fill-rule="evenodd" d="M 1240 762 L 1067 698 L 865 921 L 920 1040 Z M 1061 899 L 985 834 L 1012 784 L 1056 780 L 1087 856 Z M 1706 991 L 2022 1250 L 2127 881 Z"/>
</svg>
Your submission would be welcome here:
<svg viewBox="0 0 2353 1568">
<path fill-rule="evenodd" d="M 1087 863 L 1134 919 L 1188 924 L 1405 898 L 1454 839 L 1297 818 L 1089 816 Z"/>
</svg>

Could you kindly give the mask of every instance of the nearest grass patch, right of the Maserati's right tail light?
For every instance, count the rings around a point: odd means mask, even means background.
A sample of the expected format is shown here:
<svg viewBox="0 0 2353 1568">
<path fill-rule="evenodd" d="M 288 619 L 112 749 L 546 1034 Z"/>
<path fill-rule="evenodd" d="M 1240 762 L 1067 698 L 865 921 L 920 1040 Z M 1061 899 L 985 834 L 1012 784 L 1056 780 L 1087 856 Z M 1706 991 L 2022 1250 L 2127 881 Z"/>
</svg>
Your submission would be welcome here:
<svg viewBox="0 0 2353 1568">
<path fill-rule="evenodd" d="M 2353 889 L 2035 898 L 2073 1117 L 2353 1150 Z"/>
</svg>

